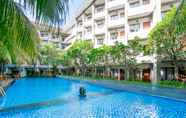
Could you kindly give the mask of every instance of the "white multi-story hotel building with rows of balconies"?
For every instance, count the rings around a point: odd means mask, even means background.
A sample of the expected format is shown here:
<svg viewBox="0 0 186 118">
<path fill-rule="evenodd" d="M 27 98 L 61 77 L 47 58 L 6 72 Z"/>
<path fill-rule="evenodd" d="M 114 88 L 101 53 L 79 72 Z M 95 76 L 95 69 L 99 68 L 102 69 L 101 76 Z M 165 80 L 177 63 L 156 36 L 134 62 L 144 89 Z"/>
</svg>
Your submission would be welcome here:
<svg viewBox="0 0 186 118">
<path fill-rule="evenodd" d="M 145 42 L 151 29 L 179 3 L 180 0 L 92 0 L 76 16 L 70 27 L 73 33 L 66 41 L 91 40 L 95 48 L 114 45 L 116 41 L 127 45 L 136 36 Z M 154 56 L 141 54 L 137 58 L 138 63 L 149 64 L 141 73 L 152 76 Z"/>
</svg>

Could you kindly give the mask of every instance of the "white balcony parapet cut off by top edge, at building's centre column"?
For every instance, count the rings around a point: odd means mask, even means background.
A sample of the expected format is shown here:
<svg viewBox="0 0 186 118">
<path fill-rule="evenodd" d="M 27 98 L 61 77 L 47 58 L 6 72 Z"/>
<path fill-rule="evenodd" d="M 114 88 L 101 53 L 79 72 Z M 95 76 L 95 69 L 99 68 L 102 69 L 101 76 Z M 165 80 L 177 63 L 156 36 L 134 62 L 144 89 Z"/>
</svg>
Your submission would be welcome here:
<svg viewBox="0 0 186 118">
<path fill-rule="evenodd" d="M 125 0 L 108 1 L 108 9 L 123 8 Z"/>
</svg>

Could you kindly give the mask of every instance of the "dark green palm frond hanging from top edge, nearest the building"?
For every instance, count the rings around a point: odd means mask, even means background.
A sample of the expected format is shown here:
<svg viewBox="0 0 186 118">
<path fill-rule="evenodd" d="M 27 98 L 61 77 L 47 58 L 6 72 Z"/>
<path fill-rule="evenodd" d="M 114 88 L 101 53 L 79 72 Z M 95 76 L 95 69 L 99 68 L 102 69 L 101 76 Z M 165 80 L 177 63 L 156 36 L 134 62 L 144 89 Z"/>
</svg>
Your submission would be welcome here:
<svg viewBox="0 0 186 118">
<path fill-rule="evenodd" d="M 69 0 L 24 0 L 23 3 L 39 23 L 59 26 L 66 20 Z"/>
</svg>

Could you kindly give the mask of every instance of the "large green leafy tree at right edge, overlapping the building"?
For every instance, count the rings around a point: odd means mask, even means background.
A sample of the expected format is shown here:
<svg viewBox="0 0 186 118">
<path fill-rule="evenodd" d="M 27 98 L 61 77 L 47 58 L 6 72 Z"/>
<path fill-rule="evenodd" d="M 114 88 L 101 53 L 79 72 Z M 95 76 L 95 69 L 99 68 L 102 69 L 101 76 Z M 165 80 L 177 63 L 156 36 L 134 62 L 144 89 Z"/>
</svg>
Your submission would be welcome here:
<svg viewBox="0 0 186 118">
<path fill-rule="evenodd" d="M 149 34 L 148 42 L 151 53 L 157 53 L 159 59 L 179 60 L 186 58 L 180 36 L 186 33 L 186 2 L 178 9 L 169 11 Z"/>
</svg>

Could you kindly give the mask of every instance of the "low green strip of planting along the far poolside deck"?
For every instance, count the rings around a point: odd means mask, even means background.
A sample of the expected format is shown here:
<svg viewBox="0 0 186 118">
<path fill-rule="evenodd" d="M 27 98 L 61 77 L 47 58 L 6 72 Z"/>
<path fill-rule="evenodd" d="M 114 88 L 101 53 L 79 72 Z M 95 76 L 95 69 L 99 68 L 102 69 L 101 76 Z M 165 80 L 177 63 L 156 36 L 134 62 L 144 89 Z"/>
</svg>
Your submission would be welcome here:
<svg viewBox="0 0 186 118">
<path fill-rule="evenodd" d="M 144 81 L 140 81 L 140 80 L 121 80 L 118 81 L 114 78 L 108 78 L 108 77 L 83 77 L 83 76 L 66 76 L 66 77 L 74 77 L 77 79 L 81 79 L 81 80 L 110 80 L 114 83 L 118 83 L 118 84 L 135 84 L 135 85 L 143 85 L 143 86 L 152 86 L 152 83 L 150 82 L 144 82 Z M 182 88 L 182 89 L 186 89 L 186 83 L 183 82 L 179 82 L 176 80 L 164 80 L 164 81 L 158 81 L 154 86 L 158 86 L 158 87 L 169 87 L 169 88 Z"/>
</svg>

